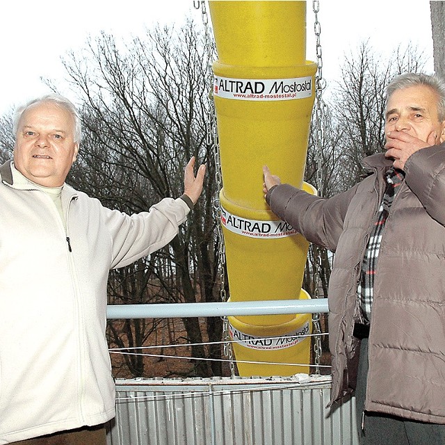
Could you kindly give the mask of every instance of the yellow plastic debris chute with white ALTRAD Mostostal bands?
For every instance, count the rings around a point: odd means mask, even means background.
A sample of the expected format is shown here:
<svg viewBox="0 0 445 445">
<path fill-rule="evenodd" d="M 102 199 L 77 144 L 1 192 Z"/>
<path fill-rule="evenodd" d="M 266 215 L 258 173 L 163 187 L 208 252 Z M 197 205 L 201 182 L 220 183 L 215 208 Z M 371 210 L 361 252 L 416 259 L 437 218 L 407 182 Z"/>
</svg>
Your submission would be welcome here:
<svg viewBox="0 0 445 445">
<path fill-rule="evenodd" d="M 230 300 L 309 298 L 308 243 L 268 209 L 262 167 L 303 183 L 316 64 L 305 60 L 305 1 L 209 1 Z M 310 314 L 229 317 L 240 375 L 309 372 Z M 280 338 L 273 338 L 280 337 Z M 260 362 L 246 364 L 244 361 Z M 294 366 L 304 364 L 305 366 Z"/>
</svg>

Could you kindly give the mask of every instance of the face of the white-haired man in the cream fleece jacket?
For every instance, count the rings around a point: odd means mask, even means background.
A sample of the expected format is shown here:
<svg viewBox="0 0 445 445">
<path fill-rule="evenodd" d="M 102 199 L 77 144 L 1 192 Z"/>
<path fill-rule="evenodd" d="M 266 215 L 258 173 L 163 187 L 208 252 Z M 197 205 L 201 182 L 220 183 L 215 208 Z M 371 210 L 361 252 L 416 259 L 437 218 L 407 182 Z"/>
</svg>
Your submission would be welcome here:
<svg viewBox="0 0 445 445">
<path fill-rule="evenodd" d="M 78 151 L 69 111 L 54 102 L 26 108 L 14 147 L 14 165 L 22 175 L 41 186 L 62 186 Z"/>
</svg>

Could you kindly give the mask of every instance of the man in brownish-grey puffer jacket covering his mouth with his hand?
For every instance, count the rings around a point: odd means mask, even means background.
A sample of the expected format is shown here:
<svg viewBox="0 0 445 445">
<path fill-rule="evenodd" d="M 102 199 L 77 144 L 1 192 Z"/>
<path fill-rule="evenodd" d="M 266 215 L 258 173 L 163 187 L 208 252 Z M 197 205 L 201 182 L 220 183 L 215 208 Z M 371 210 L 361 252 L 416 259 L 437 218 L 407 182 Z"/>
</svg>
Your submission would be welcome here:
<svg viewBox="0 0 445 445">
<path fill-rule="evenodd" d="M 356 390 L 362 444 L 445 444 L 445 83 L 387 88 L 387 149 L 371 175 L 323 199 L 264 167 L 270 209 L 336 252 L 332 403 Z"/>
</svg>

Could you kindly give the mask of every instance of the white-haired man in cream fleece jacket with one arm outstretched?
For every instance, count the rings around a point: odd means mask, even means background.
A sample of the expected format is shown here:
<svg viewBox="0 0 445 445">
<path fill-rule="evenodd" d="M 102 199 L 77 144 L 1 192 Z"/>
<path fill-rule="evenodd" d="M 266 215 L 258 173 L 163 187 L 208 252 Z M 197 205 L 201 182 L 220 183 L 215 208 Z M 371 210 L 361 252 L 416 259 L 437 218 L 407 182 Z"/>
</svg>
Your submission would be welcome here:
<svg viewBox="0 0 445 445">
<path fill-rule="evenodd" d="M 127 215 L 74 190 L 81 124 L 57 95 L 19 108 L 14 159 L 0 166 L 0 444 L 104 445 L 115 415 L 106 283 L 169 243 L 202 191 Z"/>
</svg>

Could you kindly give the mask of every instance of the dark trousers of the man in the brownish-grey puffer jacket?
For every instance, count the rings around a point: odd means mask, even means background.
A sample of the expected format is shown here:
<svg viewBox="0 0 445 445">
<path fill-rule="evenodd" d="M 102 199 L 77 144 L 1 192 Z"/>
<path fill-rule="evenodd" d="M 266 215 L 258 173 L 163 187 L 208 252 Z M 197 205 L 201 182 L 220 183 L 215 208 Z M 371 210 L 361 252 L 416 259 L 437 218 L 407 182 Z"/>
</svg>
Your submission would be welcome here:
<svg viewBox="0 0 445 445">
<path fill-rule="evenodd" d="M 401 417 L 364 412 L 366 378 L 368 376 L 368 339 L 362 340 L 357 389 L 357 427 L 362 445 L 443 445 L 445 425 L 410 421 Z M 397 376 L 394 375 L 396 384 Z M 362 413 L 364 417 L 362 418 Z M 363 428 L 362 428 L 363 423 Z"/>
</svg>

